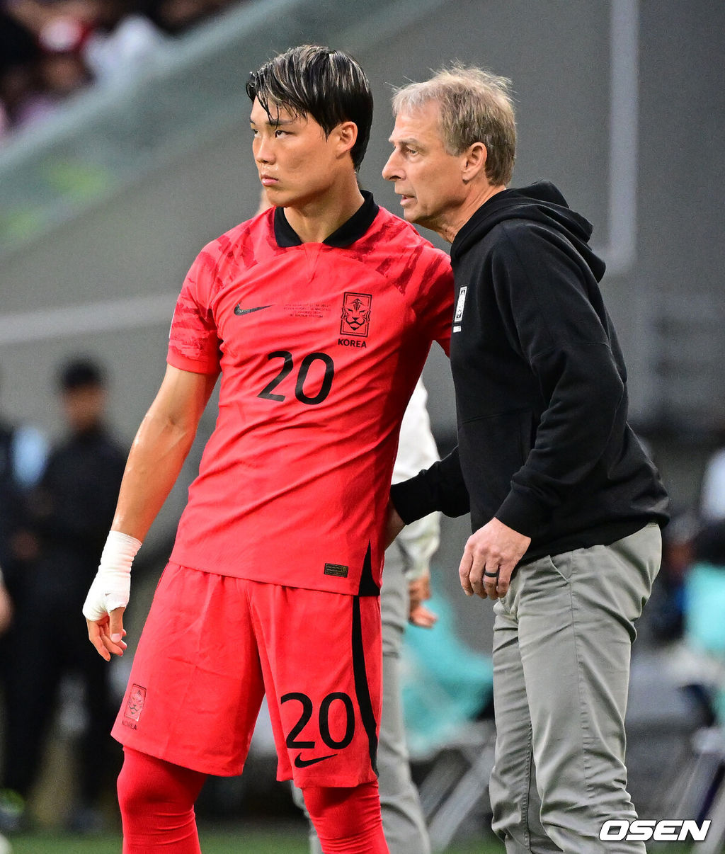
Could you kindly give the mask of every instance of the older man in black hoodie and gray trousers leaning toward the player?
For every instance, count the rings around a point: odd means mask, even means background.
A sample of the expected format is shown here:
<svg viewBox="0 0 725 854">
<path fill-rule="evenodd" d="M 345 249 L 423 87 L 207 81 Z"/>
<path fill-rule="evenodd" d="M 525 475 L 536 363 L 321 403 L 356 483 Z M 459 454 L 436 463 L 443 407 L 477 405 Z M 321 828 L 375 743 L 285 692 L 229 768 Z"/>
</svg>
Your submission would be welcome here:
<svg viewBox="0 0 725 854">
<path fill-rule="evenodd" d="M 453 67 L 394 98 L 383 177 L 405 219 L 453 244 L 459 447 L 393 488 L 389 532 L 470 507 L 461 584 L 496 600 L 494 830 L 509 854 L 590 854 L 605 850 L 605 821 L 636 818 L 624 765 L 630 647 L 667 495 L 627 423 L 592 226 L 553 184 L 506 189 L 508 85 Z"/>
</svg>

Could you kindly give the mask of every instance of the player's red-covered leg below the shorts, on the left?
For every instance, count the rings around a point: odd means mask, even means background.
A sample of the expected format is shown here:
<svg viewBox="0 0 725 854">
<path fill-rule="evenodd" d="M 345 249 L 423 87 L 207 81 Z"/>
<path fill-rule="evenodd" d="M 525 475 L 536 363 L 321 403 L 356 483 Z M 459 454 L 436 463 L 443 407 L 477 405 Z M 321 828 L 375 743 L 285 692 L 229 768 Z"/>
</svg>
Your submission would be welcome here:
<svg viewBox="0 0 725 854">
<path fill-rule="evenodd" d="M 206 779 L 125 747 L 118 781 L 123 854 L 201 854 L 194 802 Z"/>
</svg>

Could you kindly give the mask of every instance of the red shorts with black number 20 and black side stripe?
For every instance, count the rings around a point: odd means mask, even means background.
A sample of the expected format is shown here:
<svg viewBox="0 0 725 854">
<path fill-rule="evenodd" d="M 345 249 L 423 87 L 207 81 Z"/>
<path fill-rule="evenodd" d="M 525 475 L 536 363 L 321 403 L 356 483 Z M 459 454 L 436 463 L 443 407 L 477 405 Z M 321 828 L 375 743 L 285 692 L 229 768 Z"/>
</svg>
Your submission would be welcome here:
<svg viewBox="0 0 725 854">
<path fill-rule="evenodd" d="M 376 779 L 380 600 L 168 564 L 113 728 L 121 744 L 213 775 L 242 771 L 266 694 L 278 779 Z"/>
</svg>

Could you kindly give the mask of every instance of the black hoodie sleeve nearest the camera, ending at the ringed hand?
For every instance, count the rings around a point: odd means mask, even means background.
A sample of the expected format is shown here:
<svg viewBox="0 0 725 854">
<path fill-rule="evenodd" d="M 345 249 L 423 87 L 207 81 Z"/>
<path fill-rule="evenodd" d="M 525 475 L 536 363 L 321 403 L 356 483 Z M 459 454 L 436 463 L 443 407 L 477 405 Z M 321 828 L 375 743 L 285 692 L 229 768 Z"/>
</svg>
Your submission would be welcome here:
<svg viewBox="0 0 725 854">
<path fill-rule="evenodd" d="M 626 418 L 624 377 L 592 272 L 558 233 L 503 225 L 492 272 L 512 346 L 529 364 L 544 409 L 535 442 L 495 516 L 522 534 L 582 483 Z"/>
</svg>

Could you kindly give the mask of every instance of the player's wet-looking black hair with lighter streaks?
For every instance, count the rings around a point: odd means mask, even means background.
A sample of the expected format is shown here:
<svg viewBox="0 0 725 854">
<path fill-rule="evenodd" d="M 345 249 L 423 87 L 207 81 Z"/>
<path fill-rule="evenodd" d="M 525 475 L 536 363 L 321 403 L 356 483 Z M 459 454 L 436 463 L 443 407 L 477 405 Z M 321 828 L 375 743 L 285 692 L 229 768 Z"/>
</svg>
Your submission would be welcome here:
<svg viewBox="0 0 725 854">
<path fill-rule="evenodd" d="M 355 169 L 365 157 L 372 124 L 372 94 L 365 72 L 352 56 L 319 44 L 302 44 L 275 56 L 249 74 L 247 94 L 260 102 L 270 120 L 275 108 L 310 115 L 326 135 L 342 121 L 353 121 L 358 138 L 350 151 Z"/>
</svg>

